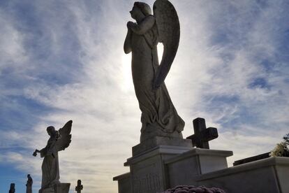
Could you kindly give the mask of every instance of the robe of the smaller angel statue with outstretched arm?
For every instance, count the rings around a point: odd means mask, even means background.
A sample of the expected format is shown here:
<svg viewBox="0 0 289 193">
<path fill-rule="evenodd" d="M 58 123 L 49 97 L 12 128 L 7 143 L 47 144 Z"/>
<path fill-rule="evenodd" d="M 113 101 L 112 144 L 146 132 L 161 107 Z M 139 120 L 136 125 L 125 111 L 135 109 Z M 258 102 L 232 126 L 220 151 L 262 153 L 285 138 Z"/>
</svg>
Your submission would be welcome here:
<svg viewBox="0 0 289 193">
<path fill-rule="evenodd" d="M 40 150 L 40 157 L 44 157 L 41 166 L 42 183 L 41 189 L 49 187 L 59 182 L 59 162 L 58 152 L 55 143 L 57 138 L 50 136 L 45 148 Z"/>
</svg>

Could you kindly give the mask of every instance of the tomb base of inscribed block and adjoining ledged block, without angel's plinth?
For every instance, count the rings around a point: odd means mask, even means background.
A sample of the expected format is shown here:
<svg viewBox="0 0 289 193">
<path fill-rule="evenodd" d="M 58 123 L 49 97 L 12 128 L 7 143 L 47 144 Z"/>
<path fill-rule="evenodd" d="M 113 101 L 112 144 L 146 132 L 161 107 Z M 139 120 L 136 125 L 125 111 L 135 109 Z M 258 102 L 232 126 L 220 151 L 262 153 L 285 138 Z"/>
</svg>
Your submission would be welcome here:
<svg viewBox="0 0 289 193">
<path fill-rule="evenodd" d="M 186 143 L 181 143 L 186 144 Z M 196 185 L 196 176 L 228 167 L 232 151 L 158 145 L 128 158 L 130 172 L 116 176 L 119 193 L 163 192 L 177 185 Z"/>
</svg>

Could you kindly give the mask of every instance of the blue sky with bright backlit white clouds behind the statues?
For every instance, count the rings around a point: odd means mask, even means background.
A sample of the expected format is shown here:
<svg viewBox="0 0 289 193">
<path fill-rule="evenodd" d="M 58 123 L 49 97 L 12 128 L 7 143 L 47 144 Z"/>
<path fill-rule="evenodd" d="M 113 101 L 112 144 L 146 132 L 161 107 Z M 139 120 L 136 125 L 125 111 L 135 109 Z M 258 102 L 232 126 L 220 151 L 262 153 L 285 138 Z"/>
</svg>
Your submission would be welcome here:
<svg viewBox="0 0 289 193">
<path fill-rule="evenodd" d="M 144 1 L 153 5 L 154 1 Z M 210 148 L 228 164 L 269 152 L 288 133 L 289 2 L 172 0 L 179 50 L 165 79 L 193 134 L 203 117 L 218 128 Z M 140 110 L 123 50 L 133 1 L 0 1 L 0 192 L 26 176 L 40 189 L 46 127 L 73 120 L 59 152 L 60 180 L 83 192 L 117 192 L 114 176 L 140 140 Z M 161 45 L 158 45 L 161 50 Z M 159 53 L 161 55 L 161 52 Z"/>
</svg>

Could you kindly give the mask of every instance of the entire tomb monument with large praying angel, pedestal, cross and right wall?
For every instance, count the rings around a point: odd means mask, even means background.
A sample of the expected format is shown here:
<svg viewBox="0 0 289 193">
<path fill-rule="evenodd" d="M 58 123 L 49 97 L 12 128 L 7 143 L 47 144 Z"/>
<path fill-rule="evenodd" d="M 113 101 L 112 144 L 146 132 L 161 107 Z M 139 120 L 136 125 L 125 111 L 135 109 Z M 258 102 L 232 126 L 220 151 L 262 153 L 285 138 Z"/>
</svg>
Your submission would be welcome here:
<svg viewBox="0 0 289 193">
<path fill-rule="evenodd" d="M 228 168 L 232 151 L 209 149 L 218 131 L 206 128 L 202 118 L 193 120 L 195 134 L 183 138 L 184 121 L 164 83 L 179 45 L 179 19 L 168 0 L 156 0 L 153 10 L 154 15 L 147 3 L 135 2 L 130 13 L 136 22 L 127 22 L 124 52 L 132 52 L 142 128 L 140 143 L 124 163 L 129 172 L 113 178 L 119 193 L 164 192 L 178 185 L 219 187 L 234 193 L 288 192 L 288 158 L 270 157 Z M 163 43 L 160 64 L 158 43 Z"/>
</svg>

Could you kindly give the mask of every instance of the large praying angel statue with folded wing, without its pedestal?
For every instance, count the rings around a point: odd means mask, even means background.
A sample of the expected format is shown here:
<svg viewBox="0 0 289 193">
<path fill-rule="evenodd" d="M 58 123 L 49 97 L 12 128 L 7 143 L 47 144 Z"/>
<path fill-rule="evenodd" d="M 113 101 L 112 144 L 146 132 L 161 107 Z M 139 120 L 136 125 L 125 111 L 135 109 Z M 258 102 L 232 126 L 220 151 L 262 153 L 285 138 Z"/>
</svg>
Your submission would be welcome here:
<svg viewBox="0 0 289 193">
<path fill-rule="evenodd" d="M 142 111 L 140 141 L 153 136 L 182 138 L 184 120 L 177 114 L 164 83 L 179 46 L 177 12 L 170 1 L 156 0 L 154 15 L 142 2 L 135 2 L 130 13 L 136 22 L 127 23 L 124 52 L 132 52 L 133 85 Z M 163 43 L 161 64 L 158 42 Z"/>
</svg>

